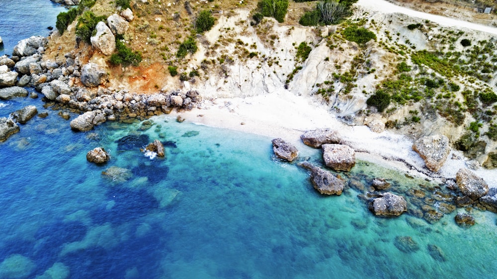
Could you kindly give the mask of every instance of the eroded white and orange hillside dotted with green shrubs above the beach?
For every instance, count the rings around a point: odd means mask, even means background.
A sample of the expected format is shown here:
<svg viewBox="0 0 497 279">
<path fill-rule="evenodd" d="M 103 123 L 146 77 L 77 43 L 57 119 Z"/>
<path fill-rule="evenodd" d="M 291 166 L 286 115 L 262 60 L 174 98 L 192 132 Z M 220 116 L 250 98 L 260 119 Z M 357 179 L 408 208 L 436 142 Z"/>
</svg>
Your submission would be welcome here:
<svg viewBox="0 0 497 279">
<path fill-rule="evenodd" d="M 497 146 L 488 133 L 495 123 L 495 104 L 484 104 L 479 94 L 496 91 L 492 69 L 497 58 L 486 52 L 496 38 L 360 6 L 341 25 L 303 27 L 296 21 L 304 6 L 293 4 L 288 22 L 264 18 L 253 24 L 254 3 L 223 2 L 214 9 L 214 27 L 195 36 L 198 50 L 178 59 L 175 53 L 189 36 L 194 14 L 182 1 L 136 1 L 134 19 L 123 37 L 127 46 L 142 52 L 138 67 L 113 66 L 109 56 L 90 45 L 78 46 L 76 22 L 64 35 L 50 37 L 44 60 L 63 64 L 65 54 L 71 53 L 81 64 L 95 63 L 108 73 L 100 87 L 135 93 L 197 90 L 210 100 L 289 90 L 328 106 L 330 113 L 349 125 L 381 121 L 413 139 L 441 134 L 453 145 L 471 132 L 473 141 L 484 141 L 486 146 L 468 156 L 480 163 L 487 160 L 486 154 Z M 200 10 L 209 3 L 192 6 Z M 97 1 L 92 10 L 111 15 L 116 7 Z M 360 45 L 348 41 L 343 35 L 347 26 L 364 27 L 376 39 Z M 463 46 L 463 39 L 471 46 Z M 302 56 L 302 43 L 310 48 L 308 55 Z M 399 67 L 401 63 L 404 68 Z M 177 67 L 177 75 L 171 76 L 170 66 Z M 83 86 L 78 78 L 72 85 Z M 366 105 L 378 90 L 391 95 L 382 113 Z M 468 130 L 475 126 L 471 123 L 477 123 L 477 128 Z"/>
</svg>

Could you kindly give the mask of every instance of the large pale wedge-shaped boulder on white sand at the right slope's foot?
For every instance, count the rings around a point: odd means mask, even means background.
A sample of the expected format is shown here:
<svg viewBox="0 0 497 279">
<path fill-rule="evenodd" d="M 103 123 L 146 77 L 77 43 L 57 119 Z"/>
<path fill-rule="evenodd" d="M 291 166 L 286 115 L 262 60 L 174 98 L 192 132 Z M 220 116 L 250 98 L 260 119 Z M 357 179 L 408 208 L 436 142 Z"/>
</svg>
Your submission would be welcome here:
<svg viewBox="0 0 497 279">
<path fill-rule="evenodd" d="M 449 155 L 449 139 L 443 135 L 423 137 L 414 141 L 413 150 L 424 160 L 429 170 L 436 172 Z"/>
</svg>

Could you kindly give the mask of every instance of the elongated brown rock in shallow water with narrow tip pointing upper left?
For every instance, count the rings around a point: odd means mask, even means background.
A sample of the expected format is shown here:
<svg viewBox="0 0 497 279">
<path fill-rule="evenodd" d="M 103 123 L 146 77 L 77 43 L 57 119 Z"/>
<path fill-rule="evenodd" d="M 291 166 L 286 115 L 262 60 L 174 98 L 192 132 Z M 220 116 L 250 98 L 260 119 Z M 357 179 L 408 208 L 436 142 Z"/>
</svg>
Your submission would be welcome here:
<svg viewBox="0 0 497 279">
<path fill-rule="evenodd" d="M 303 162 L 301 166 L 311 170 L 311 183 L 318 192 L 324 195 L 341 195 L 345 186 L 345 180 L 341 177 L 334 176 L 309 162 Z"/>
</svg>

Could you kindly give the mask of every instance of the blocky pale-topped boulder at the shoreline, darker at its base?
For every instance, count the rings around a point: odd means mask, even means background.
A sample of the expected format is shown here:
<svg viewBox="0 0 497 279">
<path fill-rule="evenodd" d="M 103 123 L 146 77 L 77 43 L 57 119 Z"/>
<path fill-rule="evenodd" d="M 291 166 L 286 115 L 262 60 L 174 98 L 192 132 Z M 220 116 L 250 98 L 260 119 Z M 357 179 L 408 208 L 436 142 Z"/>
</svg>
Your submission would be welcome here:
<svg viewBox="0 0 497 279">
<path fill-rule="evenodd" d="M 342 144 L 323 144 L 321 148 L 327 167 L 350 171 L 355 165 L 355 151 L 351 147 Z"/>
</svg>

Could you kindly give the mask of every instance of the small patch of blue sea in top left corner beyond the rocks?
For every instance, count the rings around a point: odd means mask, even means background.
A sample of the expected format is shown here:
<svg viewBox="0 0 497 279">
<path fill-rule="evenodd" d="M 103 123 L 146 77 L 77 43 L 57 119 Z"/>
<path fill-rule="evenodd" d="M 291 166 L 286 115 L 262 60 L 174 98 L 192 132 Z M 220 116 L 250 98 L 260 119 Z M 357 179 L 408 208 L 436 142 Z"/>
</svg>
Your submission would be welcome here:
<svg viewBox="0 0 497 279">
<path fill-rule="evenodd" d="M 0 0 L 0 56 L 12 55 L 17 42 L 31 36 L 48 36 L 57 14 L 66 9 L 50 0 Z"/>
</svg>

